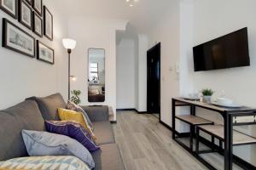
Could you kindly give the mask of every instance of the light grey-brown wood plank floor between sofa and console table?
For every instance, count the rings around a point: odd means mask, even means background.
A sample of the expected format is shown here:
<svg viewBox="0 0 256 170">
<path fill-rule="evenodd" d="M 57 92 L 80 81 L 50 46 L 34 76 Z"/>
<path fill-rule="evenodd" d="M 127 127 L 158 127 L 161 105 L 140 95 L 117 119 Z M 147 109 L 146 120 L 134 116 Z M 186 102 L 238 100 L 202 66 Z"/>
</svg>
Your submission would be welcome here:
<svg viewBox="0 0 256 170">
<path fill-rule="evenodd" d="M 113 130 L 126 170 L 207 169 L 172 140 L 172 132 L 162 126 L 155 116 L 121 111 L 117 114 L 117 120 Z M 212 163 L 222 169 L 221 156 L 213 157 L 218 159 L 211 157 L 215 161 Z"/>
</svg>

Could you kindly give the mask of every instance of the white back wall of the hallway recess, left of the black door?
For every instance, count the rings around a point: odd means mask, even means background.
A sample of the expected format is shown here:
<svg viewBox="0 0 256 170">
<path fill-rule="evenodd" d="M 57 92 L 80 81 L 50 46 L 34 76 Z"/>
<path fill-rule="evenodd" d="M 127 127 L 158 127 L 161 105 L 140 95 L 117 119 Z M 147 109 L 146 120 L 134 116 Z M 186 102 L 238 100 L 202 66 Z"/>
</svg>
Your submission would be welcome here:
<svg viewBox="0 0 256 170">
<path fill-rule="evenodd" d="M 122 38 L 117 45 L 117 109 L 133 109 L 136 105 L 136 42 Z"/>
</svg>

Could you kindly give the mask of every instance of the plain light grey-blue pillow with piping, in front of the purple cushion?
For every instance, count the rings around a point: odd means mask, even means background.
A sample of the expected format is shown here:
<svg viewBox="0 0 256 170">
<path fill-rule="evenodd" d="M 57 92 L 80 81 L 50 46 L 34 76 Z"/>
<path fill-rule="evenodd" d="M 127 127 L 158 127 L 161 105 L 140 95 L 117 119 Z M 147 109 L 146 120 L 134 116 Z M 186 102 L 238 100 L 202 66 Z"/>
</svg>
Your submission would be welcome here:
<svg viewBox="0 0 256 170">
<path fill-rule="evenodd" d="M 22 130 L 29 156 L 76 156 L 88 167 L 95 167 L 90 152 L 78 141 L 55 133 Z"/>
</svg>

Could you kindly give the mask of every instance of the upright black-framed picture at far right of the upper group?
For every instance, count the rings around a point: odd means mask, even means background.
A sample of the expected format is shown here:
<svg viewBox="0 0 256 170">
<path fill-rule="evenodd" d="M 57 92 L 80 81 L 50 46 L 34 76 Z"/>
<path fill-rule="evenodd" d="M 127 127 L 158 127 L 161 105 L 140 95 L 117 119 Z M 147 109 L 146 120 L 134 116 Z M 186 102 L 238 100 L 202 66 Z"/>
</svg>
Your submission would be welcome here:
<svg viewBox="0 0 256 170">
<path fill-rule="evenodd" d="M 48 8 L 44 6 L 44 36 L 49 40 L 53 40 L 53 16 Z"/>
</svg>

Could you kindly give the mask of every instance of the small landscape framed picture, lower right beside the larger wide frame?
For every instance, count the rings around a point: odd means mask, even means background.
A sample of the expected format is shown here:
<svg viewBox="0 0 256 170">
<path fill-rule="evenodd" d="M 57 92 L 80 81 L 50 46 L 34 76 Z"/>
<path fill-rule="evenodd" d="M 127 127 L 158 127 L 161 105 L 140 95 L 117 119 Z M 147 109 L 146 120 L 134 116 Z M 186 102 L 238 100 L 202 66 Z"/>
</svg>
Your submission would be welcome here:
<svg viewBox="0 0 256 170">
<path fill-rule="evenodd" d="M 37 41 L 37 59 L 49 63 L 55 64 L 55 50 L 44 45 L 44 43 Z"/>
</svg>

